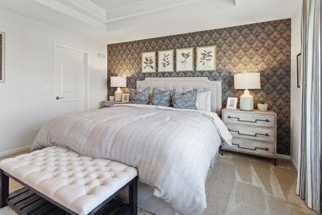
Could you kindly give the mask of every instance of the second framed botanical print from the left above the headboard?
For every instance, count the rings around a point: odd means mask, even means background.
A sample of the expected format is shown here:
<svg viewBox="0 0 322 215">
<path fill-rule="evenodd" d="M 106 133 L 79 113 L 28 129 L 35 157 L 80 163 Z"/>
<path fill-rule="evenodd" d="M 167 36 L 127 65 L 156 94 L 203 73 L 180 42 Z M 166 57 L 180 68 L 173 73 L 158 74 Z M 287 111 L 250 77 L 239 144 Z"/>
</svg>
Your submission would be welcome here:
<svg viewBox="0 0 322 215">
<path fill-rule="evenodd" d="M 162 50 L 157 52 L 158 73 L 174 71 L 174 50 Z"/>
</svg>

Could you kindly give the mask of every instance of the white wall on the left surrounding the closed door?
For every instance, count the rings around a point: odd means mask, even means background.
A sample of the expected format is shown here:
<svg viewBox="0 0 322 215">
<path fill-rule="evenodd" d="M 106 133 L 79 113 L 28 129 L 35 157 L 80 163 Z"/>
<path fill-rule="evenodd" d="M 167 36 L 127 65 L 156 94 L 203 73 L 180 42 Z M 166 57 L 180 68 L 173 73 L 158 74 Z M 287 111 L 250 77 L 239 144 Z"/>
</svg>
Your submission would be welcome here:
<svg viewBox="0 0 322 215">
<path fill-rule="evenodd" d="M 59 17 L 57 17 L 59 19 Z M 89 50 L 89 108 L 107 96 L 106 44 L 0 10 L 6 33 L 6 82 L 0 83 L 0 156 L 28 149 L 53 116 L 53 43 Z M 44 86 L 49 85 L 49 91 Z"/>
</svg>

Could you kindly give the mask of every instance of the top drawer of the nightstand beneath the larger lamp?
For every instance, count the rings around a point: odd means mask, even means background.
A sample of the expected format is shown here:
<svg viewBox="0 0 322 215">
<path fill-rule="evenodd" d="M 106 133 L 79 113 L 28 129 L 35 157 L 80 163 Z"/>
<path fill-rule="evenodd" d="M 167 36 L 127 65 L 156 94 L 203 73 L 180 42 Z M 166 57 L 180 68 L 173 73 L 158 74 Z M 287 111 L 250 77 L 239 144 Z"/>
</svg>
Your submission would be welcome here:
<svg viewBox="0 0 322 215">
<path fill-rule="evenodd" d="M 254 125 L 262 127 L 275 127 L 275 115 L 254 113 L 254 112 L 239 112 L 239 111 L 223 111 L 222 121 L 224 123 L 234 123 L 243 125 Z"/>
</svg>

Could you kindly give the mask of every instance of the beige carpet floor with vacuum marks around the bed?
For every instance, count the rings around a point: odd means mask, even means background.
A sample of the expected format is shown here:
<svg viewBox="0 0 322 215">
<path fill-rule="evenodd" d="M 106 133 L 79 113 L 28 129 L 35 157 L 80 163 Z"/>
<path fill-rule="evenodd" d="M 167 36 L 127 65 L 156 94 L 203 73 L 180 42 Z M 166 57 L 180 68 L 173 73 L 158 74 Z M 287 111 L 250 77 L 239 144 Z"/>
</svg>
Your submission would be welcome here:
<svg viewBox="0 0 322 215">
<path fill-rule="evenodd" d="M 279 159 L 275 167 L 271 159 L 227 152 L 218 155 L 206 181 L 208 208 L 204 214 L 316 214 L 296 195 L 296 176 L 287 160 Z M 10 181 L 10 192 L 19 188 L 20 184 Z M 17 213 L 7 206 L 0 214 Z M 140 209 L 138 214 L 151 213 Z"/>
</svg>

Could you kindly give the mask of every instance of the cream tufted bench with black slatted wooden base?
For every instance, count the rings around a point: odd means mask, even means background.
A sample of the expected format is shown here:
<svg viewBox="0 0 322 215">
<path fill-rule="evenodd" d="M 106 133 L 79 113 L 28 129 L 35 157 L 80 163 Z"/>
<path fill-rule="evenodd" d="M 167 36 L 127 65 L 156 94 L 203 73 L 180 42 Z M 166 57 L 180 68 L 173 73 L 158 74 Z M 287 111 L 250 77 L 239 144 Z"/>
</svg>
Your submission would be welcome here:
<svg viewBox="0 0 322 215">
<path fill-rule="evenodd" d="M 9 177 L 25 188 L 9 194 Z M 114 198 L 127 186 L 129 204 Z M 126 207 L 137 214 L 136 168 L 58 146 L 0 161 L 0 189 L 0 208 L 9 204 L 21 214 L 43 214 L 40 209 L 48 207 L 52 214 L 125 213 Z"/>
</svg>

